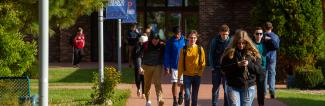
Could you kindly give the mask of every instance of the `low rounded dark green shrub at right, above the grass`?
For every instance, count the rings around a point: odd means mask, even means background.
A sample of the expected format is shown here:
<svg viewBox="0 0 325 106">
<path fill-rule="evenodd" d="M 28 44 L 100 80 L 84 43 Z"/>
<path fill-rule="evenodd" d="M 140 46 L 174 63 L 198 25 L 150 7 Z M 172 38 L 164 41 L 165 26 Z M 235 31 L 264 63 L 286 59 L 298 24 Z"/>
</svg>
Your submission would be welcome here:
<svg viewBox="0 0 325 106">
<path fill-rule="evenodd" d="M 295 71 L 295 83 L 300 89 L 312 89 L 323 81 L 323 74 L 319 69 L 299 67 Z"/>
</svg>

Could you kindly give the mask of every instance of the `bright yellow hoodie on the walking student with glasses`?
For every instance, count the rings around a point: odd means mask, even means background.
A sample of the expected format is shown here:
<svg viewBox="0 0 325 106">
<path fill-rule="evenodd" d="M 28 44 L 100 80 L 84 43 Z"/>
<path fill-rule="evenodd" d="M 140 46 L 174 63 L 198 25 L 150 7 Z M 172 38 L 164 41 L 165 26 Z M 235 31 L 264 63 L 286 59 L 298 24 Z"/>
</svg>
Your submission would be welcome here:
<svg viewBox="0 0 325 106">
<path fill-rule="evenodd" d="M 181 49 L 180 56 L 178 59 L 178 77 L 180 79 L 181 75 L 186 76 L 202 76 L 202 72 L 205 68 L 205 53 L 203 47 L 201 47 L 201 64 L 199 65 L 199 52 L 198 45 L 194 44 L 192 46 L 187 45 L 186 56 L 185 56 L 185 67 L 184 71 L 184 49 Z"/>
</svg>

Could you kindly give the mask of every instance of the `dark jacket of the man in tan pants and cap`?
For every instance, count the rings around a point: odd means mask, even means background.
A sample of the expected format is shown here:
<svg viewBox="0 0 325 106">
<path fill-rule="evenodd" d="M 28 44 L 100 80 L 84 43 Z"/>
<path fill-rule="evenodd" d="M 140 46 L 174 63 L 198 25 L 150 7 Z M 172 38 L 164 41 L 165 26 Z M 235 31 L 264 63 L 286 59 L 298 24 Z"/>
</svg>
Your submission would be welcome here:
<svg viewBox="0 0 325 106">
<path fill-rule="evenodd" d="M 163 62 L 163 53 L 165 45 L 158 43 L 156 46 L 148 41 L 144 45 L 142 64 L 144 65 L 161 65 Z"/>
</svg>

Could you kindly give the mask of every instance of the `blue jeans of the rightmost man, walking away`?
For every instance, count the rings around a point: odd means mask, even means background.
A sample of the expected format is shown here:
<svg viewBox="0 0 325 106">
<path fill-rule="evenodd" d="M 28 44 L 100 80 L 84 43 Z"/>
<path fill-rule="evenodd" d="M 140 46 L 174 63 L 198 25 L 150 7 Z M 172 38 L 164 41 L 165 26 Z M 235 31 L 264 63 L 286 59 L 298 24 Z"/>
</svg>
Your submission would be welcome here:
<svg viewBox="0 0 325 106">
<path fill-rule="evenodd" d="M 267 82 L 269 85 L 269 92 L 271 95 L 275 94 L 275 75 L 276 75 L 275 66 L 276 66 L 276 60 L 272 61 L 271 63 L 268 63 L 266 66 L 265 82 Z"/>
</svg>

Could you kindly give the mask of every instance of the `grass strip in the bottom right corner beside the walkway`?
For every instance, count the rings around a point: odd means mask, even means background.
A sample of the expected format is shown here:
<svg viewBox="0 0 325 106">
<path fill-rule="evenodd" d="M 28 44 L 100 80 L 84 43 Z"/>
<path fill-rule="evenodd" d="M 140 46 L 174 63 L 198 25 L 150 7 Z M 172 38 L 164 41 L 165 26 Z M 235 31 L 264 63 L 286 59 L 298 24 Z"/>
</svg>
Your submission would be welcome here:
<svg viewBox="0 0 325 106">
<path fill-rule="evenodd" d="M 301 90 L 277 90 L 277 99 L 288 106 L 325 106 L 325 94 L 310 94 Z"/>
</svg>

